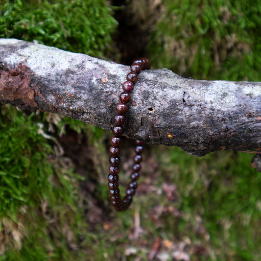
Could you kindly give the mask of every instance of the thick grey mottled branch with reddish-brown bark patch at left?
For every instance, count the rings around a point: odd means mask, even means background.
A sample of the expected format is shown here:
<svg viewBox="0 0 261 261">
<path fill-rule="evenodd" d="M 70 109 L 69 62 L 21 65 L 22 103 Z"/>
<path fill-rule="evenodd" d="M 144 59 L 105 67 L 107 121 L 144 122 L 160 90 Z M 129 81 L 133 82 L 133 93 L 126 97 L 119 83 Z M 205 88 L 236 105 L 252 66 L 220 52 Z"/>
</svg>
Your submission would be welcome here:
<svg viewBox="0 0 261 261">
<path fill-rule="evenodd" d="M 0 101 L 111 130 L 129 66 L 16 39 L 0 39 Z M 261 82 L 186 79 L 142 71 L 125 135 L 192 155 L 261 151 Z"/>
</svg>

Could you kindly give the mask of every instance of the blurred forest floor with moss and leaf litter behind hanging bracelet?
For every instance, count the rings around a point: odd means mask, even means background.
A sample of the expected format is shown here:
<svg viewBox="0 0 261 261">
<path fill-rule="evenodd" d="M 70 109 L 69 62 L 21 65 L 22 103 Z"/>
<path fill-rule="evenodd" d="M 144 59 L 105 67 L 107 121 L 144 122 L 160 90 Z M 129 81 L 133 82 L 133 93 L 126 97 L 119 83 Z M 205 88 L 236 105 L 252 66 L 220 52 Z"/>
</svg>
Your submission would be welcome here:
<svg viewBox="0 0 261 261">
<path fill-rule="evenodd" d="M 133 204 L 116 213 L 107 191 L 105 148 L 110 135 L 104 137 L 83 149 L 89 166 L 81 186 L 88 200 L 88 260 L 261 259 L 261 175 L 251 166 L 253 154 L 220 151 L 197 158 L 179 148 L 145 145 Z M 68 137 L 65 140 L 73 144 Z M 128 182 L 132 147 L 131 140 L 123 142 L 123 186 Z M 79 163 L 77 154 L 67 151 Z M 86 170 L 78 164 L 75 171 Z"/>
</svg>

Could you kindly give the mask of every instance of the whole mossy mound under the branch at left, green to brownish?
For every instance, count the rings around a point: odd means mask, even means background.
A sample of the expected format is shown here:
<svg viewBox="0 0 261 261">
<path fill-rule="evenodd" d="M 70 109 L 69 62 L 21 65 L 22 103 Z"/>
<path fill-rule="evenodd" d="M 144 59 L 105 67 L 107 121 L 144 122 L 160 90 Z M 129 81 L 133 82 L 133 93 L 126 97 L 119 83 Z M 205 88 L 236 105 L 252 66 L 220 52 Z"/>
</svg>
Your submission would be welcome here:
<svg viewBox="0 0 261 261">
<path fill-rule="evenodd" d="M 2 242 L 0 260 L 77 260 L 78 252 L 68 245 L 85 235 L 84 209 L 78 208 L 83 178 L 63 158 L 53 157 L 55 138 L 42 135 L 43 118 L 43 113 L 1 106 L 0 234 L 10 235 Z"/>
</svg>

